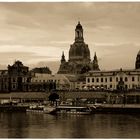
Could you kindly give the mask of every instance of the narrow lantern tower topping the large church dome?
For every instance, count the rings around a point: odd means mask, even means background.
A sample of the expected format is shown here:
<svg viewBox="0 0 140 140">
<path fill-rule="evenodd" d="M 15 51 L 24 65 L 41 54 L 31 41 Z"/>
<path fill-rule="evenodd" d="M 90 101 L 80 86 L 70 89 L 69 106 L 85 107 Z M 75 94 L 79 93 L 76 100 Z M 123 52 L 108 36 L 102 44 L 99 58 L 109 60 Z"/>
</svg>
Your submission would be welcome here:
<svg viewBox="0 0 140 140">
<path fill-rule="evenodd" d="M 76 42 L 83 42 L 83 28 L 82 25 L 80 24 L 80 21 L 78 21 L 78 24 L 75 29 L 75 41 Z"/>
</svg>

